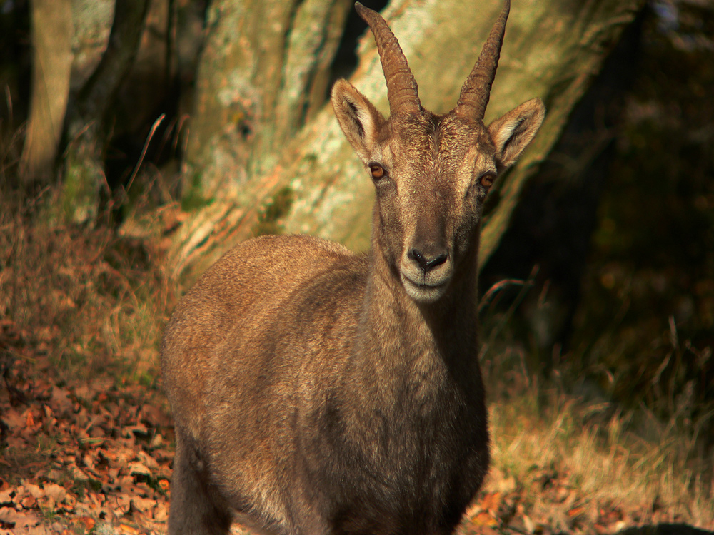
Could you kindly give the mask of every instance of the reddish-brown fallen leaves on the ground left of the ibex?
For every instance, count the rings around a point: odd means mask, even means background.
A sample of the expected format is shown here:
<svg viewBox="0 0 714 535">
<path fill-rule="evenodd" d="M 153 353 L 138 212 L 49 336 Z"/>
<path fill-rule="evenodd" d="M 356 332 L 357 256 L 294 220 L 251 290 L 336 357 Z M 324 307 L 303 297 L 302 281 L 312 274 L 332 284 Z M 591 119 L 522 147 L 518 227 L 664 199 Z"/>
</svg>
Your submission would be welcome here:
<svg viewBox="0 0 714 535">
<path fill-rule="evenodd" d="M 0 535 L 166 531 L 174 459 L 156 390 L 53 384 L 49 362 L 0 338 Z M 44 372 L 44 373 L 43 373 Z"/>
</svg>

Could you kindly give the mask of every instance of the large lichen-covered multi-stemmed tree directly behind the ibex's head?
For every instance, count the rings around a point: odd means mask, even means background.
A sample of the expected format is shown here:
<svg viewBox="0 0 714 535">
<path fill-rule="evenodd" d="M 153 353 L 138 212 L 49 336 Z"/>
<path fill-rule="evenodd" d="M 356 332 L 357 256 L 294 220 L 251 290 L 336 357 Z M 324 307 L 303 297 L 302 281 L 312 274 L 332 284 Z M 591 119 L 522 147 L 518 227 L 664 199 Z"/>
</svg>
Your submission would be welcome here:
<svg viewBox="0 0 714 535">
<path fill-rule="evenodd" d="M 198 209 L 175 235 L 170 263 L 177 271 L 205 267 L 263 229 L 368 246 L 371 185 L 331 108 L 323 106 L 325 71 L 341 31 L 335 28 L 348 5 L 285 4 L 215 0 L 209 9 L 183 188 L 183 205 Z M 558 140 L 573 106 L 642 5 L 643 0 L 513 5 L 486 118 L 533 96 L 543 98 L 548 116 L 528 153 L 492 194 L 483 261 L 506 229 L 523 183 Z M 426 108 L 443 113 L 456 103 L 500 9 L 496 0 L 478 9 L 461 0 L 388 4 L 384 15 Z M 371 36 L 363 38 L 351 81 L 388 113 Z"/>
</svg>

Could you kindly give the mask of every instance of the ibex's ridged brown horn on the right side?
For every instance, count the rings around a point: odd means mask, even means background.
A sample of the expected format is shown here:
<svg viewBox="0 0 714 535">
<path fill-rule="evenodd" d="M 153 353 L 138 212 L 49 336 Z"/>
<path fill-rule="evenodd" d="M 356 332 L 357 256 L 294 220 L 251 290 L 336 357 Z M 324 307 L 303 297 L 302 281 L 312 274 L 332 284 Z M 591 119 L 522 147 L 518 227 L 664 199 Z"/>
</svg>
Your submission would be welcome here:
<svg viewBox="0 0 714 535">
<path fill-rule="evenodd" d="M 493 78 L 496 78 L 498 58 L 501 56 L 501 45 L 509 11 L 511 11 L 511 0 L 506 0 L 501 15 L 498 16 L 496 24 L 493 24 L 491 34 L 488 34 L 486 44 L 481 49 L 481 54 L 478 54 L 473 71 L 461 88 L 461 95 L 456 103 L 456 113 L 470 121 L 483 121 L 483 115 L 486 113 L 491 85 Z"/>
</svg>

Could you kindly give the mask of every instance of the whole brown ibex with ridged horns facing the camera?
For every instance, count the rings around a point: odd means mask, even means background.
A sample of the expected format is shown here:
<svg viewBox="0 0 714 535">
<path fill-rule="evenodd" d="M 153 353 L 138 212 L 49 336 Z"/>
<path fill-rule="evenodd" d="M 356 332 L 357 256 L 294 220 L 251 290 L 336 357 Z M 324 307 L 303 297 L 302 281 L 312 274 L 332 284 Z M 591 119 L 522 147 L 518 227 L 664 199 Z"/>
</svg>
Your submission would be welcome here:
<svg viewBox="0 0 714 535">
<path fill-rule="evenodd" d="M 543 121 L 484 126 L 506 0 L 452 111 L 422 108 L 401 48 L 370 26 L 391 116 L 348 81 L 332 103 L 374 183 L 371 249 L 263 236 L 183 297 L 162 368 L 176 425 L 169 534 L 449 534 L 489 462 L 478 366 L 483 201 Z"/>
</svg>

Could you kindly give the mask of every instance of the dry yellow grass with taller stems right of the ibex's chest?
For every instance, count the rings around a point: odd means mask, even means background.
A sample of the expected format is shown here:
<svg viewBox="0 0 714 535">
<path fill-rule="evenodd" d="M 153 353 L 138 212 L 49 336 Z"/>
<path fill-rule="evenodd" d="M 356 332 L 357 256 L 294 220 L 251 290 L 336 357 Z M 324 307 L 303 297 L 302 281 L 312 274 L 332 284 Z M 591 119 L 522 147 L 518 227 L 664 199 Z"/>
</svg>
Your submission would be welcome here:
<svg viewBox="0 0 714 535">
<path fill-rule="evenodd" d="M 667 421 L 642 404 L 623 409 L 602 373 L 578 367 L 578 355 L 553 358 L 547 381 L 532 372 L 542 366 L 538 348 L 509 330 L 528 282 L 506 312 L 486 311 L 482 320 L 491 484 L 498 490 L 498 481 L 513 481 L 523 514 L 548 526 L 545 533 L 610 532 L 603 524 L 714 530 L 714 449 L 703 431 L 711 412 L 684 397 Z M 620 521 L 613 524 L 613 515 Z"/>
</svg>

